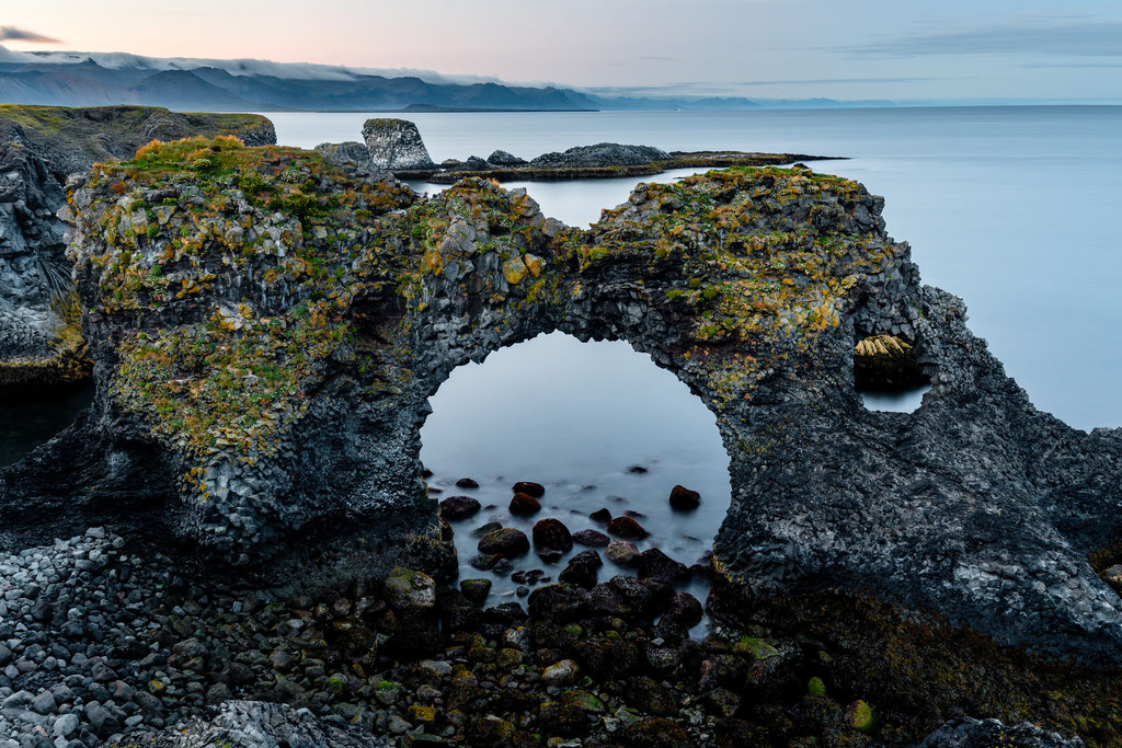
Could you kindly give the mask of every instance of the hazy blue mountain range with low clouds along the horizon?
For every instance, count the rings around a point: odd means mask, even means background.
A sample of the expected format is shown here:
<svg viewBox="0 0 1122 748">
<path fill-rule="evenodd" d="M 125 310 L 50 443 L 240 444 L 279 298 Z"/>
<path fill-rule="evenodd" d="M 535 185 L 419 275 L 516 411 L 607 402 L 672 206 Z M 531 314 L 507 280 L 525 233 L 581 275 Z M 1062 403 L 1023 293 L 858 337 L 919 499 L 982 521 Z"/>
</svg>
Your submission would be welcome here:
<svg viewBox="0 0 1122 748">
<path fill-rule="evenodd" d="M 757 109 L 837 107 L 829 99 L 600 96 L 431 74 L 254 59 L 142 57 L 123 53 L 20 53 L 0 46 L 0 103 L 148 104 L 178 111 L 441 111 Z M 890 102 L 861 102 L 886 105 Z"/>
</svg>

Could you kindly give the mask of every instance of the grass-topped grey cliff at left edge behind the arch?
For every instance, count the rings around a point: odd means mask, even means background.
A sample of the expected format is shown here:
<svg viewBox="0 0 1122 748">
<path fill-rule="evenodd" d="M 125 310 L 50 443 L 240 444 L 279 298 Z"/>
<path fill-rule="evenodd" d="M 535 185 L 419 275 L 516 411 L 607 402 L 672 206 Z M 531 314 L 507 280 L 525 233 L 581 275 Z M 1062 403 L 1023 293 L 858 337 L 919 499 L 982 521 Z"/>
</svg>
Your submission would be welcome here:
<svg viewBox="0 0 1122 748">
<path fill-rule="evenodd" d="M 0 390 L 89 376 L 65 224 L 55 218 L 67 175 L 128 158 L 153 139 L 190 135 L 276 142 L 273 124 L 255 114 L 0 105 Z"/>
</svg>

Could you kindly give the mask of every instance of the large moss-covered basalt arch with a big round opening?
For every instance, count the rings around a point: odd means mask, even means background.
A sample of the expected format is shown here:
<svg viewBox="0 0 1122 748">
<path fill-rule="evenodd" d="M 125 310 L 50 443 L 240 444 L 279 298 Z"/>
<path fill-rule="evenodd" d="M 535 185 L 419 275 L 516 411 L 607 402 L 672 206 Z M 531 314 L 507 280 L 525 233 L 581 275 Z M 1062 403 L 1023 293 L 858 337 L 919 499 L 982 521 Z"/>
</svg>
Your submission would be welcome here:
<svg viewBox="0 0 1122 748">
<path fill-rule="evenodd" d="M 467 361 L 563 331 L 628 341 L 712 410 L 733 484 L 714 565 L 742 593 L 872 591 L 1122 662 L 1122 601 L 1088 562 L 1116 561 L 1122 432 L 1036 410 L 854 182 L 640 185 L 588 231 L 493 182 L 421 200 L 226 139 L 153 145 L 70 186 L 98 394 L 2 474 L 8 545 L 95 516 L 227 564 L 313 529 L 435 548 L 427 398 Z M 854 389 L 877 335 L 932 382 L 913 414 Z"/>
</svg>

